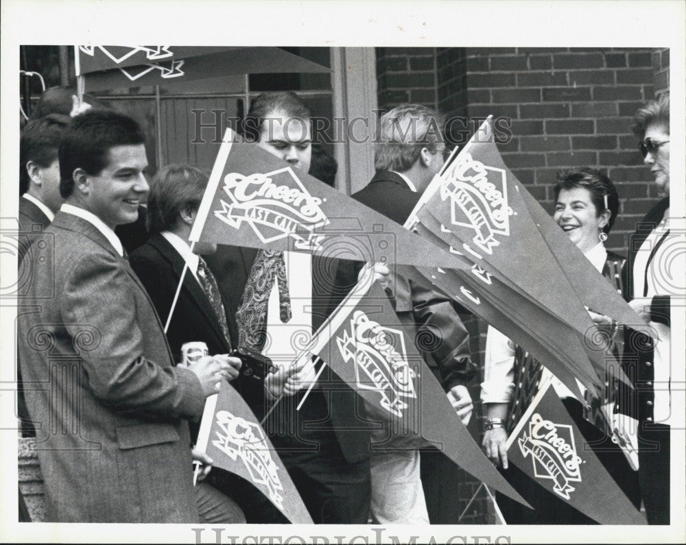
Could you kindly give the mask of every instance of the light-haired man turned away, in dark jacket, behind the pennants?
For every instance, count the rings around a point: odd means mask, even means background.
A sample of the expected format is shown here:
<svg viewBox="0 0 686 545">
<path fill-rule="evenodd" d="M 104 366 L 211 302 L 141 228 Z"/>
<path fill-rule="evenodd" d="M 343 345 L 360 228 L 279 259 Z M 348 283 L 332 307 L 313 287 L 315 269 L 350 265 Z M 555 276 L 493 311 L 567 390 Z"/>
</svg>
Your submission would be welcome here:
<svg viewBox="0 0 686 545">
<path fill-rule="evenodd" d="M 443 165 L 442 125 L 434 110 L 414 104 L 383 114 L 375 147 L 377 173 L 368 186 L 352 195 L 353 199 L 397 223 L 405 223 Z M 336 283 L 342 291 L 355 284 L 358 268 L 351 262 L 340 265 Z M 473 407 L 466 384 L 476 367 L 456 306 L 445 296 L 399 276 L 394 286 L 399 319 L 421 332 L 418 337 L 425 342 L 418 348 L 466 425 Z M 372 440 L 385 438 L 383 432 L 376 437 L 372 434 Z M 372 518 L 379 524 L 422 524 L 429 520 L 432 524 L 454 524 L 459 514 L 457 470 L 440 452 L 423 452 L 421 462 L 417 450 L 373 455 Z"/>
</svg>

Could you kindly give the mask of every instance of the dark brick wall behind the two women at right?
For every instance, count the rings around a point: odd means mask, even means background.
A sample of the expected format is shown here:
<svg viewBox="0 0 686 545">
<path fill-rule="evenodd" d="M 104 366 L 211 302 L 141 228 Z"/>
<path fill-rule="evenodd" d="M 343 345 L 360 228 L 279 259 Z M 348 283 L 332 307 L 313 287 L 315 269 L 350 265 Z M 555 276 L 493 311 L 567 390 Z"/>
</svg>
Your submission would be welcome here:
<svg viewBox="0 0 686 545">
<path fill-rule="evenodd" d="M 626 254 L 627 235 L 657 202 L 652 178 L 630 131 L 632 114 L 669 84 L 669 50 L 602 48 L 377 49 L 379 106 L 414 101 L 436 64 L 436 101 L 447 116 L 511 119 L 512 138 L 499 145 L 506 165 L 532 195 L 552 210 L 556 173 L 566 167 L 603 169 L 617 186 L 619 216 L 608 248 Z M 423 68 L 412 66 L 421 58 Z M 415 71 L 421 73 L 415 77 Z M 433 106 L 428 99 L 418 100 Z M 479 123 L 479 121 L 477 121 Z M 453 125 L 473 133 L 473 123 Z M 460 140 L 458 134 L 451 135 Z M 465 138 L 462 136 L 462 141 Z M 469 319 L 472 354 L 483 366 L 486 324 Z M 477 381 L 475 381 L 476 383 Z M 479 396 L 478 384 L 472 396 Z M 482 410 L 471 431 L 480 436 Z M 473 494 L 465 476 L 460 509 Z M 469 509 L 469 522 L 493 520 L 486 496 Z"/>
</svg>

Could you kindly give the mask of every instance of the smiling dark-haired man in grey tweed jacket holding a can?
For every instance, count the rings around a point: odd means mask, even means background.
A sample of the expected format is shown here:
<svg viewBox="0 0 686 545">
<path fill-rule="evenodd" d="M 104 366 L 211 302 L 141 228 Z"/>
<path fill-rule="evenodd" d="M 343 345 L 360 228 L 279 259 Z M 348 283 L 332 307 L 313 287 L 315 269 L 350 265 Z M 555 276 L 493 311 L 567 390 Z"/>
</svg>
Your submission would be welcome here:
<svg viewBox="0 0 686 545">
<path fill-rule="evenodd" d="M 114 229 L 148 191 L 139 125 L 89 111 L 59 149 L 65 202 L 46 229 L 18 341 L 49 522 L 198 522 L 187 419 L 228 363 L 175 367 L 163 326 Z"/>
</svg>

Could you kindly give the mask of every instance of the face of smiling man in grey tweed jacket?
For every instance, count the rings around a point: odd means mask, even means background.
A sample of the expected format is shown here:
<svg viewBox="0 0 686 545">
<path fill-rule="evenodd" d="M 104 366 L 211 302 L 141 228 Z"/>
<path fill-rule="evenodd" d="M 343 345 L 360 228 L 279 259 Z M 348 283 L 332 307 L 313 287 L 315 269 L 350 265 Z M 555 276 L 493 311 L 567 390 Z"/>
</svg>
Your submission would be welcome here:
<svg viewBox="0 0 686 545">
<path fill-rule="evenodd" d="M 138 219 L 138 207 L 150 186 L 145 180 L 145 145 L 111 147 L 107 166 L 97 175 L 88 175 L 84 207 L 114 229 Z"/>
</svg>

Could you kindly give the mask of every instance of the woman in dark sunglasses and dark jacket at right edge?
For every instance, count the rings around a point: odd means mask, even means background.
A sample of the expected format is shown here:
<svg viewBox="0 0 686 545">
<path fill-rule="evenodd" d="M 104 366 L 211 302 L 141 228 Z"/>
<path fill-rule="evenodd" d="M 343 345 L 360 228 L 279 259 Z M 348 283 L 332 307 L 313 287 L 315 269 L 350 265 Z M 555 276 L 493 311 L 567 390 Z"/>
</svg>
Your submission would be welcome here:
<svg viewBox="0 0 686 545">
<path fill-rule="evenodd" d="M 683 250 L 670 239 L 670 95 L 639 108 L 632 124 L 643 162 L 663 198 L 629 238 L 626 300 L 657 333 L 653 341 L 627 328 L 622 365 L 635 390 L 617 410 L 639 420 L 639 481 L 649 524 L 670 523 L 670 293 L 683 285 Z M 676 258 L 676 261 L 675 261 Z M 677 263 L 680 262 L 680 263 Z M 681 278 L 681 280 L 680 280 Z M 676 285 L 675 285 L 676 282 Z M 623 405 L 623 406 L 622 406 Z"/>
</svg>

